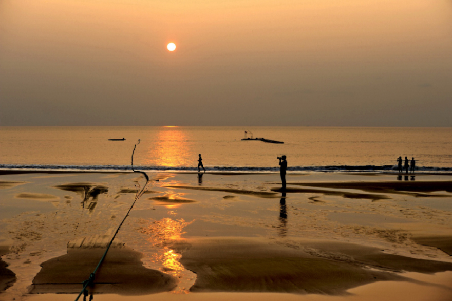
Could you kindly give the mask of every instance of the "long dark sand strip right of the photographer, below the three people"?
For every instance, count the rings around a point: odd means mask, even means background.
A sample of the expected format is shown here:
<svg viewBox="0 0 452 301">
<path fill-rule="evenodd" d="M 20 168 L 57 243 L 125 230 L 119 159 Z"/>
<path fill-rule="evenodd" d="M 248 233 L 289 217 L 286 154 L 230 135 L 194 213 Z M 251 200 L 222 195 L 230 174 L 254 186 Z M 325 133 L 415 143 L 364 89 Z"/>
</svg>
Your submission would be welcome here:
<svg viewBox="0 0 452 301">
<path fill-rule="evenodd" d="M 415 196 L 443 196 L 450 195 L 428 195 L 437 191 L 452 193 L 452 181 L 396 181 L 396 182 L 321 182 L 321 183 L 288 183 L 290 185 L 323 187 L 332 189 L 357 189 L 375 193 L 405 193 L 415 192 Z"/>
</svg>

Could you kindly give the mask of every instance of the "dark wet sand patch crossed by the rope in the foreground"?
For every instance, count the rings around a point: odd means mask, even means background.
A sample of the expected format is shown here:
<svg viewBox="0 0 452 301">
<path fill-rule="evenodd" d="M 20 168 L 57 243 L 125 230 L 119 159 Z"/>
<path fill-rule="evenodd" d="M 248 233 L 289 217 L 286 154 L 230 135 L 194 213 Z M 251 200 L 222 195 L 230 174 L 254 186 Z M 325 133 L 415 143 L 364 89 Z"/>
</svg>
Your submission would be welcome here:
<svg viewBox="0 0 452 301">
<path fill-rule="evenodd" d="M 96 268 L 105 249 L 68 249 L 66 255 L 41 264 L 30 293 L 79 293 L 82 282 Z M 141 254 L 127 248 L 110 248 L 90 293 L 146 295 L 171 291 L 177 280 L 157 270 L 146 269 Z"/>
</svg>

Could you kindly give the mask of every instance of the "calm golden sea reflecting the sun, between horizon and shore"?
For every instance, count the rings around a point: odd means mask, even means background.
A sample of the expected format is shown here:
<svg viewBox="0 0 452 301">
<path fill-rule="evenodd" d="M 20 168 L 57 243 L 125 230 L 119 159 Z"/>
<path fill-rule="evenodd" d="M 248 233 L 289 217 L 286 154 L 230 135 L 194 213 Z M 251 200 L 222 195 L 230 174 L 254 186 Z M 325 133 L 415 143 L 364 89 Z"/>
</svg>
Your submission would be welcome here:
<svg viewBox="0 0 452 301">
<path fill-rule="evenodd" d="M 241 140 L 251 135 L 284 144 Z M 208 172 L 276 172 L 286 155 L 291 173 L 396 171 L 399 156 L 446 173 L 452 128 L 0 127 L 0 170 L 194 172 L 198 154 Z"/>
</svg>

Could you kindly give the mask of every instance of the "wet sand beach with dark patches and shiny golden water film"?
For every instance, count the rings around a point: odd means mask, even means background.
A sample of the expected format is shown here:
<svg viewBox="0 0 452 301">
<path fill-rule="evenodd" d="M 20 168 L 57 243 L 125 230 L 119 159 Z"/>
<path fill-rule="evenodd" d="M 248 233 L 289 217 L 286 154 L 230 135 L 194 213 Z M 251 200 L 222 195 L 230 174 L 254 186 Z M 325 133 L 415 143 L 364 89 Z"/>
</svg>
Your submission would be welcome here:
<svg viewBox="0 0 452 301">
<path fill-rule="evenodd" d="M 452 300 L 449 175 L 148 175 L 94 299 Z M 0 299 L 74 299 L 144 184 L 1 173 Z"/>
</svg>

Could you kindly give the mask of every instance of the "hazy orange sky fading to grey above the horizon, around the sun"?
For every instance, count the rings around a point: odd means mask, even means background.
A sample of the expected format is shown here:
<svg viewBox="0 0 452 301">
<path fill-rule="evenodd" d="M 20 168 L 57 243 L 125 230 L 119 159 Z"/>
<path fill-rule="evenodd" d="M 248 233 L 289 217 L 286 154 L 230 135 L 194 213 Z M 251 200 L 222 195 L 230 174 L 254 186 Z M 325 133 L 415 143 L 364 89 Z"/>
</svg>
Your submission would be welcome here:
<svg viewBox="0 0 452 301">
<path fill-rule="evenodd" d="M 452 0 L 0 0 L 0 126 L 451 114 Z"/>
</svg>

